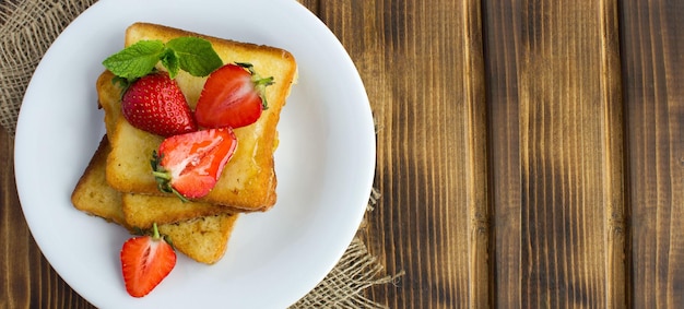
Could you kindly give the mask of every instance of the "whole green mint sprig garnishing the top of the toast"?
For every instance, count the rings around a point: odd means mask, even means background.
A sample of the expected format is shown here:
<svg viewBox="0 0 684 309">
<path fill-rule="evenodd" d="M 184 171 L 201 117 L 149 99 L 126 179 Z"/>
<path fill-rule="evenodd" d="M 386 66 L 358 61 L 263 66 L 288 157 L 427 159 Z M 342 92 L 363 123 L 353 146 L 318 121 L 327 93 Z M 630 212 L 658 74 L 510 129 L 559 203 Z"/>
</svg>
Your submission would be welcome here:
<svg viewBox="0 0 684 309">
<path fill-rule="evenodd" d="M 115 75 L 132 82 L 154 70 L 162 62 L 174 79 L 179 70 L 193 76 L 207 76 L 223 66 L 211 43 L 199 37 L 178 37 L 164 44 L 161 40 L 140 40 L 105 59 L 102 63 Z"/>
</svg>

